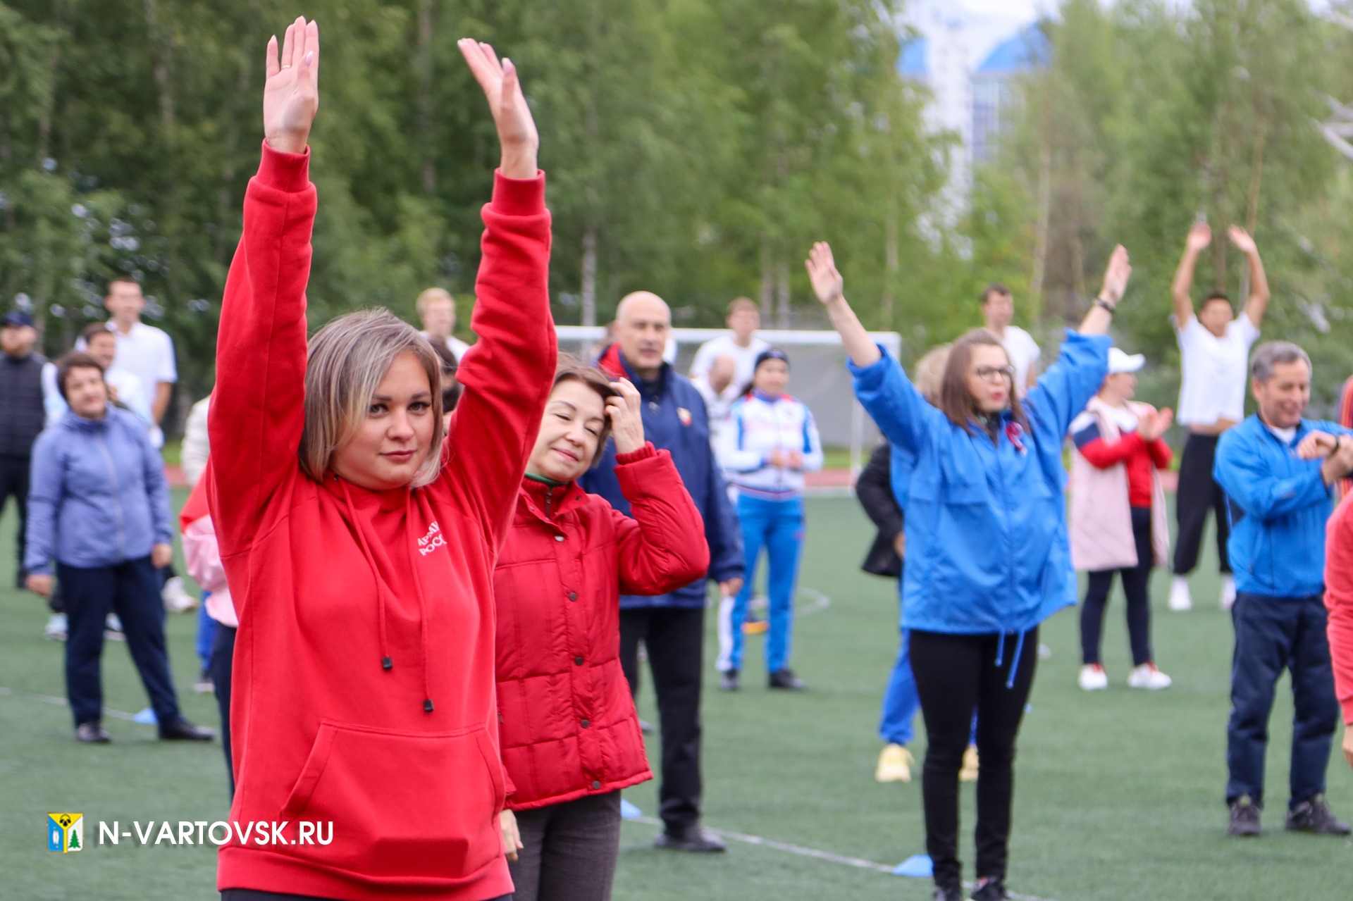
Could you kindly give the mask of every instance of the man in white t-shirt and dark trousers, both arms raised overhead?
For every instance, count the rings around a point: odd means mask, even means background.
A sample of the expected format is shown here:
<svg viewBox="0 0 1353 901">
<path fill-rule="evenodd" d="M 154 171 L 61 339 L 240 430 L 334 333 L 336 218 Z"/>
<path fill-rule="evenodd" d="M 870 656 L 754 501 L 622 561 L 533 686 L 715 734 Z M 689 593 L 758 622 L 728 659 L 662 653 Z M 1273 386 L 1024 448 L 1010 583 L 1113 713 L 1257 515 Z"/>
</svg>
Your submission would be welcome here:
<svg viewBox="0 0 1353 901">
<path fill-rule="evenodd" d="M 1222 568 L 1222 607 L 1235 603 L 1235 578 L 1226 552 L 1230 522 L 1226 513 L 1226 494 L 1212 478 L 1216 441 L 1222 433 L 1245 418 L 1245 386 L 1249 373 L 1250 348 L 1260 337 L 1260 323 L 1268 310 L 1268 277 L 1254 239 L 1243 229 L 1231 226 L 1227 237 L 1245 254 L 1250 268 L 1250 296 L 1237 318 L 1231 300 L 1220 291 L 1203 299 L 1193 314 L 1193 267 L 1197 257 L 1212 242 L 1212 230 L 1206 222 L 1189 229 L 1184 242 L 1184 256 L 1174 272 L 1174 331 L 1180 342 L 1178 422 L 1188 429 L 1188 441 L 1180 459 L 1180 483 L 1176 495 L 1178 534 L 1174 542 L 1174 582 L 1170 586 L 1170 610 L 1188 610 L 1193 598 L 1188 588 L 1188 574 L 1197 565 L 1199 548 L 1207 513 L 1216 513 L 1216 553 Z"/>
</svg>

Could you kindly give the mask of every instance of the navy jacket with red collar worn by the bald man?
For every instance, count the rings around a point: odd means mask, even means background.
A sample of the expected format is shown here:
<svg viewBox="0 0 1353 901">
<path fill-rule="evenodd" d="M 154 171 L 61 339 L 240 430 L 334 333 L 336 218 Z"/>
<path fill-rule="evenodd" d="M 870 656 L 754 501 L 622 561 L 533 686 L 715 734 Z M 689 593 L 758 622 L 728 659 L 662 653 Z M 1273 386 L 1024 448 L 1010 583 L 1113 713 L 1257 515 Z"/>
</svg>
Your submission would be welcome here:
<svg viewBox="0 0 1353 901">
<path fill-rule="evenodd" d="M 618 345 L 610 345 L 597 360 L 597 365 L 612 377 L 626 377 L 643 396 L 641 415 L 644 438 L 672 455 L 672 463 L 681 473 L 700 515 L 705 518 L 705 540 L 709 541 L 709 575 L 706 579 L 725 582 L 743 578 L 743 537 L 737 526 L 737 514 L 728 499 L 728 486 L 714 461 L 714 451 L 709 444 L 709 414 L 705 399 L 700 396 L 689 380 L 672 372 L 663 364 L 659 387 L 653 392 L 629 363 L 621 356 Z M 589 469 L 578 483 L 584 491 L 599 494 L 626 517 L 629 502 L 620 491 L 616 478 L 616 444 L 606 444 L 601 463 Z M 706 579 L 651 597 L 621 595 L 621 609 L 630 607 L 702 607 L 705 606 Z"/>
</svg>

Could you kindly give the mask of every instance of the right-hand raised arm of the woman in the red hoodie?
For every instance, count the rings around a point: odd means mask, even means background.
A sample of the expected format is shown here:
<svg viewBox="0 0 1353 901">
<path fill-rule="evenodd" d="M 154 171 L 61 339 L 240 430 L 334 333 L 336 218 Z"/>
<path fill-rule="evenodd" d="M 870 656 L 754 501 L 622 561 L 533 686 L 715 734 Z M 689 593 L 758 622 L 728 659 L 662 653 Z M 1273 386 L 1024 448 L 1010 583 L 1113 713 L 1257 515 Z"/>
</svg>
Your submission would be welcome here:
<svg viewBox="0 0 1353 901">
<path fill-rule="evenodd" d="M 557 348 L 549 315 L 549 211 L 536 169 L 540 138 L 510 60 L 461 41 L 460 51 L 488 97 L 502 162 L 483 210 L 483 258 L 471 326 L 479 336 L 456 371 L 464 388 L 446 441 L 442 478 L 497 548 L 553 383 Z"/>
</svg>

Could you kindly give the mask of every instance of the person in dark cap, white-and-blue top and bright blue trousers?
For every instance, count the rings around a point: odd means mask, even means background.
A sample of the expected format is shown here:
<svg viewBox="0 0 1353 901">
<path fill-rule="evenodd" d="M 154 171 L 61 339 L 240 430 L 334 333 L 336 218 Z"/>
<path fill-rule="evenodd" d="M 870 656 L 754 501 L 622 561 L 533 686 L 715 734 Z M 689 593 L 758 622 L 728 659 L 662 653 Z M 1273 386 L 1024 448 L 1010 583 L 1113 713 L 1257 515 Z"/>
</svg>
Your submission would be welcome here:
<svg viewBox="0 0 1353 901">
<path fill-rule="evenodd" d="M 806 686 L 789 668 L 794 632 L 794 584 L 804 549 L 804 473 L 823 468 L 823 442 L 813 414 L 785 392 L 789 357 L 769 349 L 756 356 L 752 382 L 728 409 L 720 429 L 718 464 L 737 491 L 737 521 L 743 529 L 747 578 L 728 605 L 720 605 L 720 687 L 736 691 L 743 668 L 743 620 L 756 580 L 756 560 L 766 549 L 766 679 L 771 689 L 801 691 Z"/>
</svg>

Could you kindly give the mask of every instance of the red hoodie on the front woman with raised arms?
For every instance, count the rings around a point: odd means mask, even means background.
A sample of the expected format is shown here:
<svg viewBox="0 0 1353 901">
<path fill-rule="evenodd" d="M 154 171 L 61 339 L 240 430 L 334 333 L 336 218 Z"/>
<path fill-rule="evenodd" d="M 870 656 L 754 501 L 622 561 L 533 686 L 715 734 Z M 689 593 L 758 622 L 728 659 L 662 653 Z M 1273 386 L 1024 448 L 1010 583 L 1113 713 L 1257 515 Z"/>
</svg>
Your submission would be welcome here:
<svg viewBox="0 0 1353 901">
<path fill-rule="evenodd" d="M 219 889 L 352 901 L 513 890 L 494 698 L 492 567 L 553 380 L 544 177 L 497 176 L 475 352 L 445 467 L 368 491 L 300 471 L 308 152 L 264 146 L 226 281 L 208 488 L 239 611 L 235 836 Z M 284 844 L 241 840 L 288 821 Z M 300 844 L 299 823 L 331 823 Z M 321 835 L 326 829 L 321 827 Z M 269 836 L 271 837 L 271 836 Z"/>
</svg>

